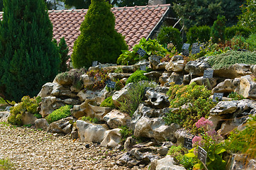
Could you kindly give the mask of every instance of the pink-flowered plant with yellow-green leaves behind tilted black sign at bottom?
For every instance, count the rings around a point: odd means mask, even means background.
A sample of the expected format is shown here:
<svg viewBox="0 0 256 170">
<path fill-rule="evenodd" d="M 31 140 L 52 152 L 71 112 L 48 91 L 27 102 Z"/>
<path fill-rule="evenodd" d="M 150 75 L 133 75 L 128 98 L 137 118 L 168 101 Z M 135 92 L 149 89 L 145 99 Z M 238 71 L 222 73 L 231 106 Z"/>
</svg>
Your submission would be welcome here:
<svg viewBox="0 0 256 170">
<path fill-rule="evenodd" d="M 197 158 L 200 146 L 207 152 L 206 166 L 208 170 L 225 169 L 226 162 L 223 160 L 223 152 L 226 152 L 226 149 L 223 147 L 223 139 L 216 130 L 211 129 L 212 126 L 213 123 L 206 118 L 200 118 L 196 122 L 196 128 L 199 128 L 201 134 L 193 138 L 192 144 L 194 148 L 185 155 Z M 194 169 L 204 169 L 204 164 L 198 159 L 198 164 L 194 165 Z"/>
</svg>

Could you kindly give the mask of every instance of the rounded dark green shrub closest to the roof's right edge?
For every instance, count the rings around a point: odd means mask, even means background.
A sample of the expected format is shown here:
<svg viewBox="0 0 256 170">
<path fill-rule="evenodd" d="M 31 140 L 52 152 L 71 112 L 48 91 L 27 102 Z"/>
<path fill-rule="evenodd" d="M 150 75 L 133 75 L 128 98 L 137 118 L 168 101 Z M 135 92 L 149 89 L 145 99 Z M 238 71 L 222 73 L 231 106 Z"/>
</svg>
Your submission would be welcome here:
<svg viewBox="0 0 256 170">
<path fill-rule="evenodd" d="M 162 45 L 172 43 L 178 51 L 182 50 L 182 37 L 177 28 L 163 27 L 157 35 L 157 40 Z"/>
</svg>

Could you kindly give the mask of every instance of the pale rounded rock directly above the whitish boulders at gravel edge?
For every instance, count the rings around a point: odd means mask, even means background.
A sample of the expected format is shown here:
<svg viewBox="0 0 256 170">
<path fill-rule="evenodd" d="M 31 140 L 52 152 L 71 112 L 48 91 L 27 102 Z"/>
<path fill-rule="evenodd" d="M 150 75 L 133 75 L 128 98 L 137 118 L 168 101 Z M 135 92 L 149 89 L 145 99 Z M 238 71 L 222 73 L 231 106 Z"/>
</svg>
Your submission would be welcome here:
<svg viewBox="0 0 256 170">
<path fill-rule="evenodd" d="M 118 128 L 126 125 L 126 121 L 130 120 L 130 115 L 122 113 L 119 110 L 113 110 L 104 116 L 104 121 L 110 128 Z"/>
</svg>

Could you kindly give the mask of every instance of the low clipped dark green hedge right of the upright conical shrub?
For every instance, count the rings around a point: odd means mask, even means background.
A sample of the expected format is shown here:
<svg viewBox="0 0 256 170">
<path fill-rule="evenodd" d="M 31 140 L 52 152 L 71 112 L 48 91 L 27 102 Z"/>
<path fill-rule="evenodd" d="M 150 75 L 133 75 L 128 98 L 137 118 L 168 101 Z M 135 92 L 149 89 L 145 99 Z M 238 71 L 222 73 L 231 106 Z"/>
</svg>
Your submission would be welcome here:
<svg viewBox="0 0 256 170">
<path fill-rule="evenodd" d="M 232 26 L 225 30 L 225 35 L 228 40 L 233 38 L 235 35 L 242 35 L 244 38 L 248 38 L 252 30 L 243 26 Z"/>
</svg>

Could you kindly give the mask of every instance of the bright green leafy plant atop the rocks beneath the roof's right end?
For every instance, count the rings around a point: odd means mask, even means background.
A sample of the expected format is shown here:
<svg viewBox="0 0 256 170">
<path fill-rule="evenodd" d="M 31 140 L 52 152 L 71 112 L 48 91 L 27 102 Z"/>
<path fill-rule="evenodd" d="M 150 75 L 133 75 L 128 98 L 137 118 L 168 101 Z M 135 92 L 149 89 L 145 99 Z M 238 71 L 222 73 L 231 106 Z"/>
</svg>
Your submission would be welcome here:
<svg viewBox="0 0 256 170">
<path fill-rule="evenodd" d="M 146 51 L 146 54 L 143 57 L 137 53 L 140 48 Z M 143 59 L 148 60 L 150 55 L 165 57 L 168 53 L 168 51 L 157 42 L 157 40 L 146 40 L 145 38 L 141 38 L 140 42 L 137 45 L 134 45 L 133 51 L 123 50 L 122 52 L 123 54 L 118 57 L 116 62 L 117 64 L 131 65 Z"/>
</svg>

